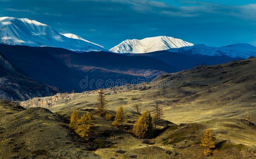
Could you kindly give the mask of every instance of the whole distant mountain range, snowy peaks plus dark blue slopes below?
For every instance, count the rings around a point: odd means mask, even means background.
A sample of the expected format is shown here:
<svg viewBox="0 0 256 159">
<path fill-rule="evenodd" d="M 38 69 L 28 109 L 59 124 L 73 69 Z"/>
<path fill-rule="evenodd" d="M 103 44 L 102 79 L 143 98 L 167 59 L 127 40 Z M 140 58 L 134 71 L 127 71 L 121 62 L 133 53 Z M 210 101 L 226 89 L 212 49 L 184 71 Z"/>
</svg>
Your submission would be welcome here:
<svg viewBox="0 0 256 159">
<path fill-rule="evenodd" d="M 242 60 L 255 57 L 256 47 L 209 47 L 157 36 L 125 40 L 109 51 L 74 34 L 60 34 L 35 20 L 1 17 L 0 52 L 0 99 L 26 100 L 60 91 L 97 89 L 97 81 L 103 82 L 101 88 L 113 81 L 113 87 L 118 80 L 137 83 L 198 65 Z M 80 82 L 87 77 L 94 83 L 82 88 Z"/>
</svg>

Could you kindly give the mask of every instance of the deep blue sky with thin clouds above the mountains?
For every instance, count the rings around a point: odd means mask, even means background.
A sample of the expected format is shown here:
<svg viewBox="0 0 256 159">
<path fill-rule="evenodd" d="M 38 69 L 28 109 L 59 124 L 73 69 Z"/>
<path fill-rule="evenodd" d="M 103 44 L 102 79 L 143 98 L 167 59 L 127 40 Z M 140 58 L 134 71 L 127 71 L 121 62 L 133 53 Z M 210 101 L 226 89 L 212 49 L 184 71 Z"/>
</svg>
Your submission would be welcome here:
<svg viewBox="0 0 256 159">
<path fill-rule="evenodd" d="M 256 46 L 255 0 L 0 0 L 0 16 L 37 20 L 107 49 L 152 36 Z"/>
</svg>

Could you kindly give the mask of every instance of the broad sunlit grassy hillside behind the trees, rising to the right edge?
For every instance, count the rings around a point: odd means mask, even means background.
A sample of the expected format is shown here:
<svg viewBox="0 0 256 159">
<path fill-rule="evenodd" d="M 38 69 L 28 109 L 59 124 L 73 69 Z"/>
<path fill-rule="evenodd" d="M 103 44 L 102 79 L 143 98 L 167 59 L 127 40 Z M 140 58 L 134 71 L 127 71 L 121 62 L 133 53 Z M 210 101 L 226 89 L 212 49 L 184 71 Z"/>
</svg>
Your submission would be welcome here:
<svg viewBox="0 0 256 159">
<path fill-rule="evenodd" d="M 249 60 L 160 75 L 154 82 L 170 79 L 171 87 L 106 95 L 108 108 L 116 110 L 123 105 L 124 109 L 133 110 L 132 106 L 139 103 L 142 110 L 152 110 L 155 101 L 161 100 L 164 118 L 177 124 L 214 118 L 245 118 L 249 112 L 256 115 L 256 58 Z M 147 85 L 152 86 L 152 83 Z M 52 106 L 50 110 L 92 108 L 96 102 L 96 95 L 91 95 Z"/>
</svg>

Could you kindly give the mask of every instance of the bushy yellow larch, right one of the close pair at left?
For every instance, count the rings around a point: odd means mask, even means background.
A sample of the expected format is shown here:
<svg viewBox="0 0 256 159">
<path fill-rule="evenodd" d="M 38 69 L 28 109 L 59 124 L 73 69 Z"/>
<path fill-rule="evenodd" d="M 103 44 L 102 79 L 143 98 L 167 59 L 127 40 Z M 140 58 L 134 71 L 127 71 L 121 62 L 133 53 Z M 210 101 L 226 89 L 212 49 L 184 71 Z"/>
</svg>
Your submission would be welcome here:
<svg viewBox="0 0 256 159">
<path fill-rule="evenodd" d="M 90 129 L 92 127 L 92 118 L 89 112 L 84 114 L 78 121 L 76 133 L 82 138 L 88 137 L 90 135 Z"/>
</svg>

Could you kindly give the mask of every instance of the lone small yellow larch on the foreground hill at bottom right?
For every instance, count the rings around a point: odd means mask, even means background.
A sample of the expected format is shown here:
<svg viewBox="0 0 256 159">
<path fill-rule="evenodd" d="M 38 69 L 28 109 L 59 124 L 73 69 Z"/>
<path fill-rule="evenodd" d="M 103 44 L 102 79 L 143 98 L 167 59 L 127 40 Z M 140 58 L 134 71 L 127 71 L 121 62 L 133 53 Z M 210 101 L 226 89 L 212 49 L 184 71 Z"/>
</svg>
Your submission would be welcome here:
<svg viewBox="0 0 256 159">
<path fill-rule="evenodd" d="M 204 136 L 202 137 L 200 146 L 206 147 L 204 150 L 204 155 L 212 155 L 212 150 L 210 148 L 214 148 L 214 142 L 212 141 L 211 131 L 210 129 L 206 129 L 204 132 Z"/>
</svg>

